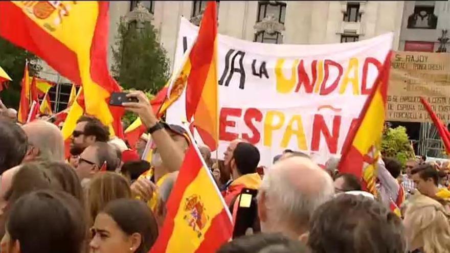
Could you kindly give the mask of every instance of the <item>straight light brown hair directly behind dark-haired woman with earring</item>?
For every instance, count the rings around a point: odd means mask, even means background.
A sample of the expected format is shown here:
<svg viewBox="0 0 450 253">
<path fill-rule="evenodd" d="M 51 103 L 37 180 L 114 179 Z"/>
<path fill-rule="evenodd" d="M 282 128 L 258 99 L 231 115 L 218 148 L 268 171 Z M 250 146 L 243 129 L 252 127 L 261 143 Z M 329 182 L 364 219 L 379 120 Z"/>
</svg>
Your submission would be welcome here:
<svg viewBox="0 0 450 253">
<path fill-rule="evenodd" d="M 89 183 L 87 192 L 87 211 L 91 217 L 91 225 L 97 214 L 108 202 L 119 198 L 131 198 L 128 181 L 114 172 L 100 172 Z"/>
</svg>

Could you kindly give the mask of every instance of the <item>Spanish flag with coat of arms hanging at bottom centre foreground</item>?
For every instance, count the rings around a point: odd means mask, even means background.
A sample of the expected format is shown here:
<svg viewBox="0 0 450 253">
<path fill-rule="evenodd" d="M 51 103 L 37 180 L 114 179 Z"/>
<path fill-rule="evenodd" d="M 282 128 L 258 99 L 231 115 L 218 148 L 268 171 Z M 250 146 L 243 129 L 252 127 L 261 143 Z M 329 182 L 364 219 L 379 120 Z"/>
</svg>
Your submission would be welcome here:
<svg viewBox="0 0 450 253">
<path fill-rule="evenodd" d="M 150 253 L 210 253 L 232 236 L 230 212 L 199 151 L 191 145 L 167 202 L 167 216 Z"/>
</svg>

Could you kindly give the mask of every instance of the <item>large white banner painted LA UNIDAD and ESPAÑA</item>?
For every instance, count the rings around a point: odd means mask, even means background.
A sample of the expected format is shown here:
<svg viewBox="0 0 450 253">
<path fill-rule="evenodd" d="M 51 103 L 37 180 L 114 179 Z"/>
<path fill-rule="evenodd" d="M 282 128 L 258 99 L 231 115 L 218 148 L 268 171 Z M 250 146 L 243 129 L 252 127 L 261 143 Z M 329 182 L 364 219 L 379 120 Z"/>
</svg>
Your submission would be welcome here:
<svg viewBox="0 0 450 253">
<path fill-rule="evenodd" d="M 175 70 L 197 32 L 182 18 Z M 286 45 L 219 34 L 219 158 L 237 138 L 256 145 L 265 166 L 285 149 L 307 153 L 321 165 L 339 155 L 392 39 L 389 33 L 351 43 Z M 167 121 L 185 120 L 183 94 Z"/>
</svg>

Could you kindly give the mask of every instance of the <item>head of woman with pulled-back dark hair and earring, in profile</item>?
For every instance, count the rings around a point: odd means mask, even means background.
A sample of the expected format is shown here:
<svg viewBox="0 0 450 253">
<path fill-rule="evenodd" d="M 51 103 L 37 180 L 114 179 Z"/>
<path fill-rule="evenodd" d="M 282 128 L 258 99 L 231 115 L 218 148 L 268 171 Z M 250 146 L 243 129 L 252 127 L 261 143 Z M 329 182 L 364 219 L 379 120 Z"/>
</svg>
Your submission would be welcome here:
<svg viewBox="0 0 450 253">
<path fill-rule="evenodd" d="M 91 252 L 147 253 L 158 237 L 158 225 L 144 202 L 117 199 L 97 215 L 91 233 Z"/>
</svg>

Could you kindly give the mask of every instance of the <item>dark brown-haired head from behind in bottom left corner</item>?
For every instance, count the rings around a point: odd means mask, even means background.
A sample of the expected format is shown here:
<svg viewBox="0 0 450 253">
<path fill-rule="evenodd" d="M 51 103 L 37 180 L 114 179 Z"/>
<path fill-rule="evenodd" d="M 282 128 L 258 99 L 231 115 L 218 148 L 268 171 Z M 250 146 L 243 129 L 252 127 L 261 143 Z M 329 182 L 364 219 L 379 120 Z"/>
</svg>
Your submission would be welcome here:
<svg viewBox="0 0 450 253">
<path fill-rule="evenodd" d="M 68 193 L 39 190 L 12 206 L 2 253 L 80 253 L 86 238 L 80 203 Z"/>
</svg>

